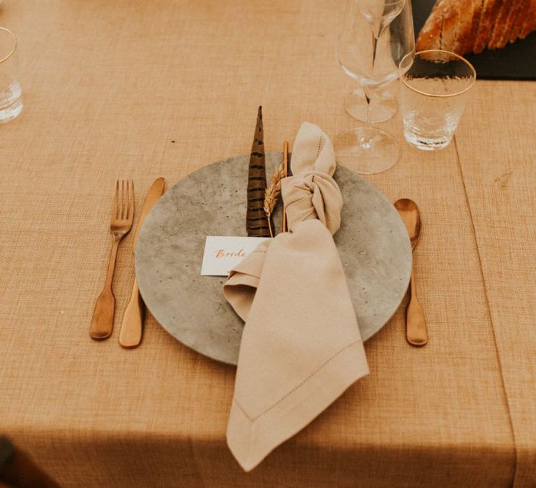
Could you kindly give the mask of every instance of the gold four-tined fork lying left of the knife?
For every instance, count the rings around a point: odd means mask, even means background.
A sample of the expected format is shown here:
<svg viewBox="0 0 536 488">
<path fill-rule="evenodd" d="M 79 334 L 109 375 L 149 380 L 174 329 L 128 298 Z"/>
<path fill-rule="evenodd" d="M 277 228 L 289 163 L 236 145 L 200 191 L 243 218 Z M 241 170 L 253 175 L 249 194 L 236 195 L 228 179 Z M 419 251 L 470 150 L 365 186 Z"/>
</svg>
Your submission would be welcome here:
<svg viewBox="0 0 536 488">
<path fill-rule="evenodd" d="M 119 180 L 115 183 L 114 209 L 112 211 L 112 231 L 113 243 L 108 263 L 106 283 L 101 295 L 98 296 L 91 319 L 89 335 L 96 340 L 106 339 L 112 335 L 114 328 L 115 297 L 112 292 L 112 280 L 115 270 L 115 259 L 117 258 L 117 248 L 121 239 L 131 230 L 134 218 L 134 182 Z"/>
</svg>

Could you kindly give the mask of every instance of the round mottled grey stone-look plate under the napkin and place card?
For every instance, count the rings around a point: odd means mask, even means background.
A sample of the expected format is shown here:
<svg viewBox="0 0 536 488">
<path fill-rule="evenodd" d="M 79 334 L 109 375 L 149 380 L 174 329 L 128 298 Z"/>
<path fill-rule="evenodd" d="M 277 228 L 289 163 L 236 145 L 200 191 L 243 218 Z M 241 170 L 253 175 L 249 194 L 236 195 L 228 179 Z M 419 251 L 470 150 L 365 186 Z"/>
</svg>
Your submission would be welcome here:
<svg viewBox="0 0 536 488">
<path fill-rule="evenodd" d="M 137 282 L 158 323 L 191 349 L 234 365 L 244 323 L 223 298 L 225 277 L 201 276 L 200 270 L 207 236 L 246 235 L 248 160 L 242 155 L 215 162 L 176 183 L 147 215 L 136 250 Z M 268 177 L 281 160 L 281 153 L 267 154 Z M 380 190 L 342 166 L 334 178 L 344 199 L 335 243 L 367 340 L 405 294 L 410 241 Z M 278 209 L 275 227 L 281 229 L 281 204 Z"/>
</svg>

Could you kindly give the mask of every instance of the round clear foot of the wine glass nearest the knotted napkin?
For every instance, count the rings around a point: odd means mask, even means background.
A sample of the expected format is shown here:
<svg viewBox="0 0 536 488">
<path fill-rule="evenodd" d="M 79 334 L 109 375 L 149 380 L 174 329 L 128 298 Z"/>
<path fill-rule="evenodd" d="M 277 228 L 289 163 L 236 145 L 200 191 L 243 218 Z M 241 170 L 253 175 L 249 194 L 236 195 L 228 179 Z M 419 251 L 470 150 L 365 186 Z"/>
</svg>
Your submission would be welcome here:
<svg viewBox="0 0 536 488">
<path fill-rule="evenodd" d="M 382 173 L 396 165 L 400 144 L 385 130 L 358 127 L 335 139 L 336 160 L 359 174 Z"/>
</svg>

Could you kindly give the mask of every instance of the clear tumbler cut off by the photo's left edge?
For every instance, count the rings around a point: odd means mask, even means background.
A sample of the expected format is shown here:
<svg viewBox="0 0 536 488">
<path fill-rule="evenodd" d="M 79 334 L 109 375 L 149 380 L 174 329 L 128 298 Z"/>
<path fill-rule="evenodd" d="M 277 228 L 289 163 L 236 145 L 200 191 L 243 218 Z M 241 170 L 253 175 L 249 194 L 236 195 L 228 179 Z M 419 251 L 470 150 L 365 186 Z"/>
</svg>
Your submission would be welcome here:
<svg viewBox="0 0 536 488">
<path fill-rule="evenodd" d="M 17 64 L 17 38 L 0 27 L 0 123 L 22 112 L 22 89 Z"/>
</svg>

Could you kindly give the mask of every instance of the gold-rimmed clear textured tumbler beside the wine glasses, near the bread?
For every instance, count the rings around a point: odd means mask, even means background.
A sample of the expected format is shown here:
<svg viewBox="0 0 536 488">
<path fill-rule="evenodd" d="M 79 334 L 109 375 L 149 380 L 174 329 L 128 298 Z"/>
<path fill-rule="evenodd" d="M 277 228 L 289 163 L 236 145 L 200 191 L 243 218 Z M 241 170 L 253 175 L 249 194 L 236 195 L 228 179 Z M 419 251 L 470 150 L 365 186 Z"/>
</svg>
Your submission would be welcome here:
<svg viewBox="0 0 536 488">
<path fill-rule="evenodd" d="M 423 151 L 448 146 L 475 84 L 475 68 L 458 54 L 429 50 L 400 63 L 404 137 Z"/>
</svg>

